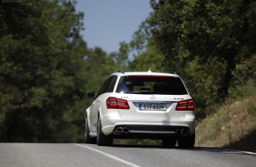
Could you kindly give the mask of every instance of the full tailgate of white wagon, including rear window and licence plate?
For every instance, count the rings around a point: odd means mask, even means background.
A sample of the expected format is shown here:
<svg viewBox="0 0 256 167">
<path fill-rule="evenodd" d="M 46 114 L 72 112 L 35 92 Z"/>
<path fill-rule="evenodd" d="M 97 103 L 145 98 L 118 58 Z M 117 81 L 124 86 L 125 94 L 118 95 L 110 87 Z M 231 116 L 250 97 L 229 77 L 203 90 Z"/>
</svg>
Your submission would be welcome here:
<svg viewBox="0 0 256 167">
<path fill-rule="evenodd" d="M 116 98 L 127 100 L 130 109 L 118 109 L 123 119 L 184 120 L 185 112 L 176 111 L 178 101 L 191 98 L 178 76 L 122 76 Z"/>
</svg>

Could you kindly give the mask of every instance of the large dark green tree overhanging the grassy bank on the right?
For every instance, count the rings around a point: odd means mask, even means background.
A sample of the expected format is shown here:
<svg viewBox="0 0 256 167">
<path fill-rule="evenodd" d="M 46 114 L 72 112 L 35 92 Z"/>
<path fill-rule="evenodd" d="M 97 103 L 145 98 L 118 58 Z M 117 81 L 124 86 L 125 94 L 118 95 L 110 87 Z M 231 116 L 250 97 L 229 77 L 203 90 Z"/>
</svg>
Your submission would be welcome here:
<svg viewBox="0 0 256 167">
<path fill-rule="evenodd" d="M 213 99 L 225 98 L 232 70 L 255 53 L 255 2 L 160 0 L 152 1 L 152 7 L 154 12 L 147 22 L 169 67 L 192 79 L 193 94 L 199 91 L 196 85 L 204 82 L 206 85 L 200 86 L 200 90 L 207 90 L 207 97 L 217 91 Z M 212 65 L 207 67 L 209 63 Z M 192 74 L 191 66 L 196 74 Z M 200 73 L 204 73 L 203 79 Z"/>
</svg>

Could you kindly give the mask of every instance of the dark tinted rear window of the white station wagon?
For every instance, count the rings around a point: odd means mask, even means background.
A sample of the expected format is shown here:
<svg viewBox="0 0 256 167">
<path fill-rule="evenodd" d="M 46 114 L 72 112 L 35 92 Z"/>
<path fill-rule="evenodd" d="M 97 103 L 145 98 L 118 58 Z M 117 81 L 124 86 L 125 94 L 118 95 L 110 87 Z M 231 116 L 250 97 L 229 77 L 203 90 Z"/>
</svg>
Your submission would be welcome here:
<svg viewBox="0 0 256 167">
<path fill-rule="evenodd" d="M 121 76 L 117 92 L 125 94 L 187 94 L 183 82 L 175 76 Z"/>
</svg>

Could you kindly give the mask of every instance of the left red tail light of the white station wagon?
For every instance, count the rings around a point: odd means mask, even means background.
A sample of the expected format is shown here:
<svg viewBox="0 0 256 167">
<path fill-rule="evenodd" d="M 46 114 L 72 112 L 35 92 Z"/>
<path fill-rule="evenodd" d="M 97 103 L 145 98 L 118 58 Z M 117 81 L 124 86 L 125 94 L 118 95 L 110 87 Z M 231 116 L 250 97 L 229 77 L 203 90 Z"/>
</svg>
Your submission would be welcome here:
<svg viewBox="0 0 256 167">
<path fill-rule="evenodd" d="M 127 100 L 122 98 L 110 97 L 107 99 L 106 104 L 108 109 L 130 109 Z"/>
</svg>

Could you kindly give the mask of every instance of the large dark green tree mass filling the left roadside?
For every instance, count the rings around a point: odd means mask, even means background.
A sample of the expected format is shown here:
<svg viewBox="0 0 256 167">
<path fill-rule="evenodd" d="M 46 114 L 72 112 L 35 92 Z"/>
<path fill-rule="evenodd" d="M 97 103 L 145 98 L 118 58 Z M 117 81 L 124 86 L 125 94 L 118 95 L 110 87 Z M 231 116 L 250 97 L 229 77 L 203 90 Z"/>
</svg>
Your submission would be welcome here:
<svg viewBox="0 0 256 167">
<path fill-rule="evenodd" d="M 28 1 L 0 7 L 2 142 L 71 142 L 84 97 L 82 14 L 73 1 Z M 72 134 L 70 134 L 72 135 Z"/>
</svg>

